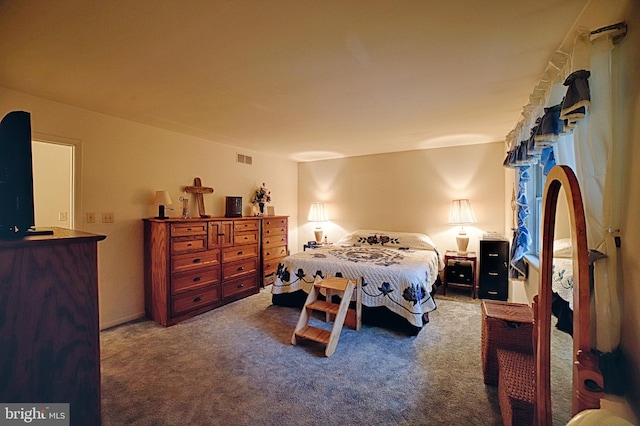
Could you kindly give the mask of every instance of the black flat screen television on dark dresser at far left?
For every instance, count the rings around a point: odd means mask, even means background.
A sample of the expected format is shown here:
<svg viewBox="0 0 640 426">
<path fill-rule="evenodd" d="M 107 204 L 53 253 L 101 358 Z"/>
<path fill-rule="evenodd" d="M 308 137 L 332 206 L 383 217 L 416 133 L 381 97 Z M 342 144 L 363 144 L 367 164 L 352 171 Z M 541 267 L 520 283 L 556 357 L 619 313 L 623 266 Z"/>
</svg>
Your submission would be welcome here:
<svg viewBox="0 0 640 426">
<path fill-rule="evenodd" d="M 31 114 L 13 111 L 0 122 L 0 238 L 34 227 Z"/>
</svg>

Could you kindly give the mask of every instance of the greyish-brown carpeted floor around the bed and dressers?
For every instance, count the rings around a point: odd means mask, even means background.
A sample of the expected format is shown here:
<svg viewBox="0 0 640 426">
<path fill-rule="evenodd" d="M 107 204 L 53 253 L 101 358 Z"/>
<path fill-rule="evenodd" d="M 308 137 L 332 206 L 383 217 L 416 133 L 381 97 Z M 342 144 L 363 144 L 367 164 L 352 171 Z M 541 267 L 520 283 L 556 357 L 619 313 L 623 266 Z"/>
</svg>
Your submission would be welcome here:
<svg viewBox="0 0 640 426">
<path fill-rule="evenodd" d="M 502 424 L 482 380 L 480 303 L 450 293 L 417 336 L 343 329 L 330 358 L 291 345 L 300 311 L 272 305 L 268 288 L 173 327 L 103 331 L 103 425 Z M 570 386 L 568 353 L 557 386 Z M 557 399 L 564 424 L 570 401 Z"/>
</svg>

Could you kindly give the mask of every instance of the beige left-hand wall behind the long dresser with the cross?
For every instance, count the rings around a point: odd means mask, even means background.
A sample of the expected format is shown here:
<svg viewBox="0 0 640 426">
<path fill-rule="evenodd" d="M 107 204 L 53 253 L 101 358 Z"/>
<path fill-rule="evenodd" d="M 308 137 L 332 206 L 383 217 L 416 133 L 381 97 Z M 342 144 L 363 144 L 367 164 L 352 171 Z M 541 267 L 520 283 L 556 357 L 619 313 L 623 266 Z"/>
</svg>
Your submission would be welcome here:
<svg viewBox="0 0 640 426">
<path fill-rule="evenodd" d="M 261 182 L 271 189 L 276 213 L 290 215 L 290 241 L 297 246 L 297 164 L 253 156 L 253 166 L 235 162 L 234 148 L 139 125 L 87 110 L 0 89 L 0 114 L 31 113 L 32 132 L 79 147 L 80 210 L 76 229 L 107 236 L 98 245 L 102 328 L 144 315 L 142 221 L 157 214 L 150 205 L 156 190 L 170 192 L 179 215 L 182 188 L 199 176 L 215 189 L 205 196 L 208 214 L 224 215 L 224 197 L 242 196 L 245 214 Z M 37 208 L 37 206 L 36 206 Z M 192 210 L 193 211 L 193 210 Z M 86 223 L 85 213 L 96 213 Z M 100 223 L 102 212 L 115 222 Z"/>
</svg>

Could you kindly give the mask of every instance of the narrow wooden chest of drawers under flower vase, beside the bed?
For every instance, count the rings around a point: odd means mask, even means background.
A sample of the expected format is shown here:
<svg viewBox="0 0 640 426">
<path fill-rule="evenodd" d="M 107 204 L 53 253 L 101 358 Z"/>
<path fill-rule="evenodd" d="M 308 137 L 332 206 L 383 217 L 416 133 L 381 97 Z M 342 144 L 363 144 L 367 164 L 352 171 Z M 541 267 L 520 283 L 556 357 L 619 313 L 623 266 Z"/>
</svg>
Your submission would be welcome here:
<svg viewBox="0 0 640 426">
<path fill-rule="evenodd" d="M 289 254 L 288 216 L 262 217 L 262 285 L 273 284 L 278 263 Z"/>
</svg>

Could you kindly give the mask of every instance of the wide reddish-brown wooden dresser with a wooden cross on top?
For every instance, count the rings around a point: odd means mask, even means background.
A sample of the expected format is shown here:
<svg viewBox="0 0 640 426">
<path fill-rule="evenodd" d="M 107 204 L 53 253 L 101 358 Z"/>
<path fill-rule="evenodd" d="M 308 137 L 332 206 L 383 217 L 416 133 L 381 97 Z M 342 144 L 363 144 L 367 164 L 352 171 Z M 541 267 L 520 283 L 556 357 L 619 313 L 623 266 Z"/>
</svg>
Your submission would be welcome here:
<svg viewBox="0 0 640 426">
<path fill-rule="evenodd" d="M 259 291 L 261 218 L 144 219 L 148 318 L 170 326 Z"/>
</svg>

